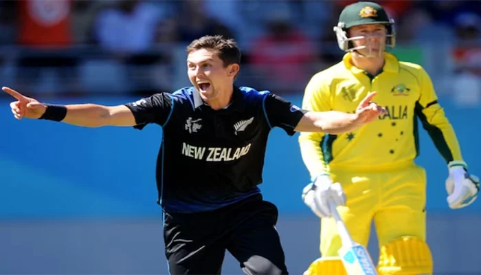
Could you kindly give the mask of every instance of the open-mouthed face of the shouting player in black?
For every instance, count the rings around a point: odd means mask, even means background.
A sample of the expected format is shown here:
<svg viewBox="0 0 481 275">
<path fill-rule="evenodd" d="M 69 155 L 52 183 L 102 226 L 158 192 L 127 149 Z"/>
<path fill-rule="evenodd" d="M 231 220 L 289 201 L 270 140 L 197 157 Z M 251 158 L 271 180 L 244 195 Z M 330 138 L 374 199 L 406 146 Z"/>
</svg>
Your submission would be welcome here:
<svg viewBox="0 0 481 275">
<path fill-rule="evenodd" d="M 236 67 L 237 66 L 237 67 Z M 201 98 L 212 100 L 234 84 L 238 65 L 224 66 L 216 50 L 201 49 L 187 57 L 187 73 L 190 83 L 199 90 Z"/>
</svg>

